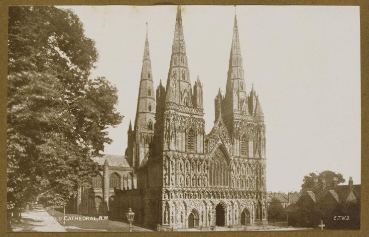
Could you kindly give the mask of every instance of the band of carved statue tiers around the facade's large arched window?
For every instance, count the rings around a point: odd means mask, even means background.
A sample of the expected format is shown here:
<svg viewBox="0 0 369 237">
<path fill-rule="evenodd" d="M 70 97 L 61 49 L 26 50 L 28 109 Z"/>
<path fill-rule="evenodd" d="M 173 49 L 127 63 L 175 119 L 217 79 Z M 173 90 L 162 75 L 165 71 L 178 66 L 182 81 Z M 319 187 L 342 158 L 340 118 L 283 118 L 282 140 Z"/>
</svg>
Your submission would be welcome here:
<svg viewBox="0 0 369 237">
<path fill-rule="evenodd" d="M 164 159 L 164 186 L 265 188 L 265 164 L 239 160 L 229 166 L 223 152 L 217 150 L 212 159 Z"/>
</svg>

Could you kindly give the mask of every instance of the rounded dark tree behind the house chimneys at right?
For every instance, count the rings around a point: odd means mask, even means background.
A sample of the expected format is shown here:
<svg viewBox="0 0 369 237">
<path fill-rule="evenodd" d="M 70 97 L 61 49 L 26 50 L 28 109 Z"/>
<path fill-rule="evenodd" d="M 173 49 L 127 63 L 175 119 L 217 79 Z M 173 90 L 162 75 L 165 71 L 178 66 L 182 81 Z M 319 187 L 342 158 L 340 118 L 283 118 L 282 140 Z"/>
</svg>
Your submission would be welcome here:
<svg viewBox="0 0 369 237">
<path fill-rule="evenodd" d="M 333 171 L 323 171 L 323 172 L 320 172 L 318 175 L 315 173 L 310 173 L 309 175 L 304 176 L 304 181 L 303 181 L 303 184 L 301 185 L 301 192 L 305 190 L 313 190 L 314 192 L 320 191 L 322 187 L 321 186 L 314 187 L 314 179 L 318 179 L 319 182 L 322 179 L 325 179 L 326 187 L 333 188 L 334 187 L 334 184 L 333 184 L 334 177 L 338 178 L 338 184 L 345 182 L 345 179 L 343 179 L 342 174 L 335 173 Z"/>
</svg>

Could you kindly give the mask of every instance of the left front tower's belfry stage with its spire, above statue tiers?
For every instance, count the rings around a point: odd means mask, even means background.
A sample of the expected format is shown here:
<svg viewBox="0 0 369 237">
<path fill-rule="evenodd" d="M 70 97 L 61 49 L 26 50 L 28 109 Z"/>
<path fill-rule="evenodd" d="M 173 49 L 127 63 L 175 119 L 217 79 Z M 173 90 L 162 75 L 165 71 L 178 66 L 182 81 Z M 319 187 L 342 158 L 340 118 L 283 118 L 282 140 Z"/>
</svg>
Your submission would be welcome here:
<svg viewBox="0 0 369 237">
<path fill-rule="evenodd" d="M 177 9 L 163 110 L 163 150 L 203 153 L 204 120 L 199 77 L 192 93 L 183 35 L 181 8 Z M 160 117 L 160 116 L 158 116 Z"/>
</svg>

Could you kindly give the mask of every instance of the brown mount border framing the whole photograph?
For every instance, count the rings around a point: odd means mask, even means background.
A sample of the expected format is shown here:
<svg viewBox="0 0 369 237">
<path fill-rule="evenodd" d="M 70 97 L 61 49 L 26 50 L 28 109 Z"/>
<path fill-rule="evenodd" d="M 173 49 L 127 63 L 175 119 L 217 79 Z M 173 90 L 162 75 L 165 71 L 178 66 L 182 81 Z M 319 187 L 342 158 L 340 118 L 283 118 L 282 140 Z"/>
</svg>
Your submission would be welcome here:
<svg viewBox="0 0 369 237">
<path fill-rule="evenodd" d="M 73 6 L 73 5 L 273 5 L 273 6 L 359 6 L 361 69 L 361 229 L 360 230 L 289 230 L 176 232 L 177 236 L 369 236 L 369 1 L 367 0 L 2 0 L 0 1 L 0 236 L 172 236 L 173 232 L 7 232 L 7 75 L 8 75 L 8 7 L 9 6 Z M 366 157 L 366 159 L 365 159 Z M 350 157 L 347 157 L 350 159 Z"/>
</svg>

